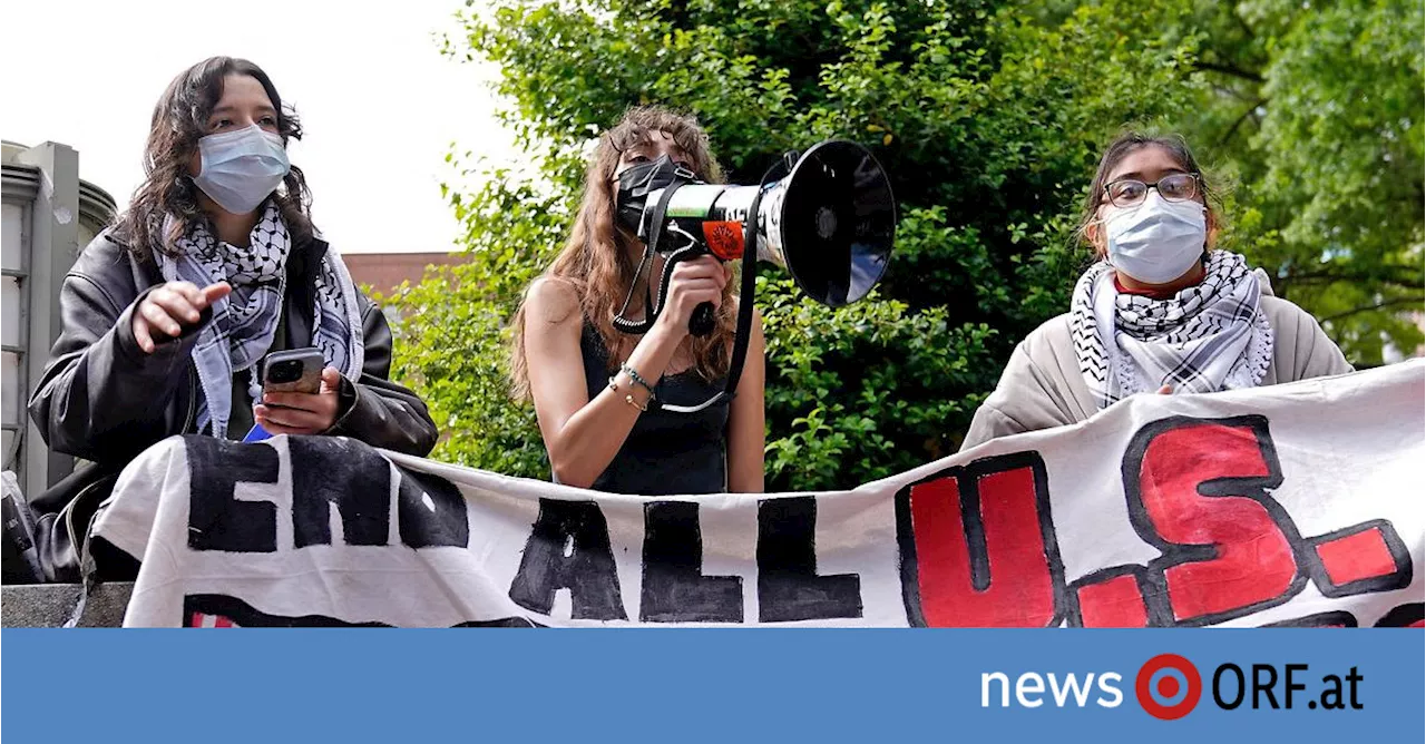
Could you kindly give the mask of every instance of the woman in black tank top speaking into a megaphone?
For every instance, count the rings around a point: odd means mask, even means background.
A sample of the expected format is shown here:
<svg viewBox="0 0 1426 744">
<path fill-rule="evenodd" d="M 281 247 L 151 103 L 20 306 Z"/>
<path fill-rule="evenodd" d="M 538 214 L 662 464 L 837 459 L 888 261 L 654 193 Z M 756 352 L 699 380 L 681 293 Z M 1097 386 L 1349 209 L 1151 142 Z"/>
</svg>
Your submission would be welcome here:
<svg viewBox="0 0 1426 744">
<path fill-rule="evenodd" d="M 666 272 L 667 259 L 646 264 L 643 241 L 617 219 L 633 190 L 672 171 L 719 180 L 692 117 L 633 108 L 600 135 L 569 241 L 515 316 L 513 388 L 535 403 L 560 483 L 649 496 L 761 492 L 760 322 L 732 401 L 674 410 L 723 391 L 739 304 L 733 264 L 702 255 Z M 689 331 L 696 314 L 710 321 L 702 335 Z M 620 331 L 616 315 L 646 322 Z"/>
</svg>

